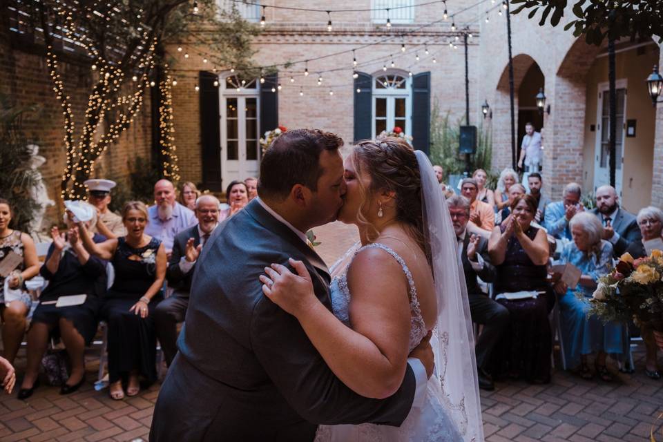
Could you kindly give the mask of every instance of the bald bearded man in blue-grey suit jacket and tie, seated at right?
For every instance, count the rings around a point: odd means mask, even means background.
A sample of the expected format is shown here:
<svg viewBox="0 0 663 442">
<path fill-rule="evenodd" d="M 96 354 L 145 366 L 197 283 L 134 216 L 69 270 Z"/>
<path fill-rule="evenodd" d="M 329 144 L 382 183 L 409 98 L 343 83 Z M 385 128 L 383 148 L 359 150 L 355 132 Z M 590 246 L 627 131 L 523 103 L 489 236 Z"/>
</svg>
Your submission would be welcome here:
<svg viewBox="0 0 663 442">
<path fill-rule="evenodd" d="M 596 189 L 596 209 L 592 213 L 603 224 L 603 239 L 613 244 L 615 258 L 622 256 L 631 242 L 642 240 L 635 215 L 619 207 L 619 196 L 613 186 Z"/>
</svg>

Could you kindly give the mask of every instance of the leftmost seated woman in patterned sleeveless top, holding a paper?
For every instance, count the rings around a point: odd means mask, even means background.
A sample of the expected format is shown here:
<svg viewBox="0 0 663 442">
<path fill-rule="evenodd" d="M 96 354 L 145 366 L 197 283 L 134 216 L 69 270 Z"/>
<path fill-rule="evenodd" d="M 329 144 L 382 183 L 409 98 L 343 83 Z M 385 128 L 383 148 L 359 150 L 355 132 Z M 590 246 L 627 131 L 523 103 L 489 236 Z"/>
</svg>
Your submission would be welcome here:
<svg viewBox="0 0 663 442">
<path fill-rule="evenodd" d="M 9 227 L 13 214 L 9 202 L 0 198 L 0 261 L 12 252 L 21 257 L 19 265 L 8 276 L 0 276 L 2 343 L 4 356 L 10 364 L 14 363 L 19 351 L 23 334 L 26 332 L 26 317 L 32 307 L 32 298 L 23 282 L 39 273 L 35 242 L 28 233 L 21 233 Z M 9 280 L 8 288 L 12 291 L 12 300 L 5 299 L 6 280 Z"/>
</svg>

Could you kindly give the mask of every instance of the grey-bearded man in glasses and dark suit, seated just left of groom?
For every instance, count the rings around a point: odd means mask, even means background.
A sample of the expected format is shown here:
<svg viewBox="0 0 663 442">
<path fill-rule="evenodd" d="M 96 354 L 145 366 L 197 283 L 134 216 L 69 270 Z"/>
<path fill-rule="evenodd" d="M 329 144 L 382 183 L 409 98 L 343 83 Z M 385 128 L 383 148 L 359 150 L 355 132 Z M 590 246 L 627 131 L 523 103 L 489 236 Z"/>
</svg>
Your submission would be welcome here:
<svg viewBox="0 0 663 442">
<path fill-rule="evenodd" d="M 154 311 L 157 338 L 169 366 L 177 353 L 177 323 L 184 320 L 186 307 L 189 306 L 189 290 L 195 261 L 219 221 L 219 200 L 215 196 L 202 195 L 195 205 L 198 224 L 177 233 L 173 254 L 166 269 L 168 285 L 175 291 L 159 302 Z"/>
</svg>

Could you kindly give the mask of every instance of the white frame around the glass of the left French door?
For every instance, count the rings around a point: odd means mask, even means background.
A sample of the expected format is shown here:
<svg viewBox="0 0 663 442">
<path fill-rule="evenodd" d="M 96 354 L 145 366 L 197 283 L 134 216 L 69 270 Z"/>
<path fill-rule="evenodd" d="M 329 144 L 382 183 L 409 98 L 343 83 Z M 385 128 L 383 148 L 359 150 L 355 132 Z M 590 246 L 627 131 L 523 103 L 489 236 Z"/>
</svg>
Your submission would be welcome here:
<svg viewBox="0 0 663 442">
<path fill-rule="evenodd" d="M 238 109 L 245 106 L 247 98 L 256 99 L 256 138 L 260 140 L 260 81 L 255 80 L 255 88 L 228 88 L 226 84 L 227 77 L 233 73 L 225 72 L 218 76 L 219 81 L 219 124 L 221 131 L 221 177 L 224 182 L 231 182 L 232 180 L 244 180 L 248 176 L 256 176 L 259 170 L 260 163 L 260 142 L 256 142 L 256 160 L 247 160 L 247 126 L 246 114 L 241 117 L 242 113 L 238 111 L 237 119 L 237 135 L 238 135 L 238 159 L 228 160 L 228 126 L 227 126 L 227 100 L 237 99 Z M 236 162 L 231 164 L 230 162 Z"/>
</svg>

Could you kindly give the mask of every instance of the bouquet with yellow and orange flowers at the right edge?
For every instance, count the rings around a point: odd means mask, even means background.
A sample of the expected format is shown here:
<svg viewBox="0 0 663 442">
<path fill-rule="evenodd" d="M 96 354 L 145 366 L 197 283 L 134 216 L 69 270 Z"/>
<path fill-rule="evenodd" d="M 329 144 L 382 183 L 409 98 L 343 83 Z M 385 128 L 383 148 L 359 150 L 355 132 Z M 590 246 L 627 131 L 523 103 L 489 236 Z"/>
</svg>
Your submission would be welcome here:
<svg viewBox="0 0 663 442">
<path fill-rule="evenodd" d="M 663 251 L 653 250 L 637 260 L 624 253 L 598 282 L 590 314 L 604 322 L 635 320 L 663 332 Z"/>
</svg>

